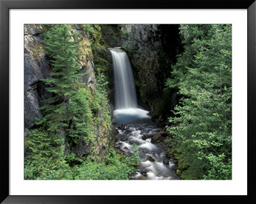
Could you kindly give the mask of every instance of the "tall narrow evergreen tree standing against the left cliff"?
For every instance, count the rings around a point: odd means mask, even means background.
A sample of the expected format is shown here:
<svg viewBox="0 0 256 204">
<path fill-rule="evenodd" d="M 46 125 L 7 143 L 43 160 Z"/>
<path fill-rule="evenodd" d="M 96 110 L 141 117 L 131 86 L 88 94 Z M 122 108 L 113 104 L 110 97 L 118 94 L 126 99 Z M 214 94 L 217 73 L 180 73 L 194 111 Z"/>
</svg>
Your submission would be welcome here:
<svg viewBox="0 0 256 204">
<path fill-rule="evenodd" d="M 38 124 L 47 125 L 47 129 L 56 132 L 61 127 L 67 127 L 72 117 L 68 104 L 76 95 L 77 88 L 83 84 L 78 82 L 83 74 L 77 74 L 80 66 L 76 59 L 79 56 L 79 38 L 76 33 L 68 32 L 68 25 L 52 25 L 44 34 L 45 48 L 51 59 L 51 78 L 44 79 L 49 87 L 47 91 L 54 96 L 49 98 L 42 107 L 45 117 Z"/>
</svg>

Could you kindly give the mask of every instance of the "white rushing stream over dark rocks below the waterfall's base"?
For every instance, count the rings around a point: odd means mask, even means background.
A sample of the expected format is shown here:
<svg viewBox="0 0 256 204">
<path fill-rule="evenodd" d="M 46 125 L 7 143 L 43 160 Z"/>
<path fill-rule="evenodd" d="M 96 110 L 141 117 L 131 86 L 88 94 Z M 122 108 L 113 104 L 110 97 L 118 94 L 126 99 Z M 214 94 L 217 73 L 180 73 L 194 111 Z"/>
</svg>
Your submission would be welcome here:
<svg viewBox="0 0 256 204">
<path fill-rule="evenodd" d="M 132 144 L 138 146 L 138 154 L 141 164 L 133 175 L 133 180 L 178 180 L 175 174 L 175 163 L 166 157 L 166 152 L 160 144 L 151 143 L 151 138 L 145 138 L 143 134 L 161 132 L 157 123 L 150 118 L 136 120 L 135 122 L 116 124 L 118 141 L 116 148 L 127 155 L 132 154 Z"/>
</svg>

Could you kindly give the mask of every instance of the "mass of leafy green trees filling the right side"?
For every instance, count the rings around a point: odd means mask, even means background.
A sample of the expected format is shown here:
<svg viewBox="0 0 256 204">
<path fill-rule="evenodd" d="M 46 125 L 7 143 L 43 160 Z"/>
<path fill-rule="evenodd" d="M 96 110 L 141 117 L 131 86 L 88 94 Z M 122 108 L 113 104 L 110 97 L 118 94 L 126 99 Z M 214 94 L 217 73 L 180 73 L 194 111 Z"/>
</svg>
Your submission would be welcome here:
<svg viewBox="0 0 256 204">
<path fill-rule="evenodd" d="M 180 33 L 185 49 L 166 86 L 181 96 L 168 127 L 181 177 L 231 179 L 231 25 L 181 25 Z"/>
</svg>

